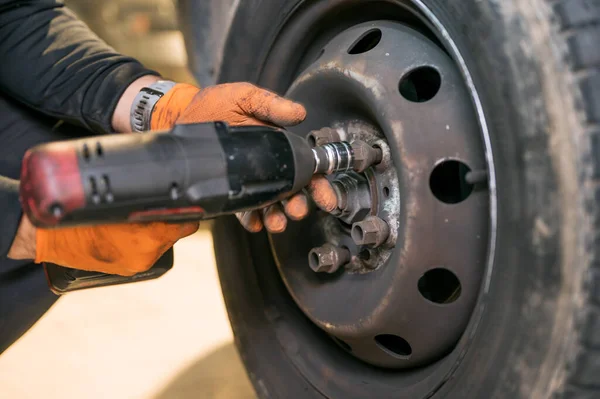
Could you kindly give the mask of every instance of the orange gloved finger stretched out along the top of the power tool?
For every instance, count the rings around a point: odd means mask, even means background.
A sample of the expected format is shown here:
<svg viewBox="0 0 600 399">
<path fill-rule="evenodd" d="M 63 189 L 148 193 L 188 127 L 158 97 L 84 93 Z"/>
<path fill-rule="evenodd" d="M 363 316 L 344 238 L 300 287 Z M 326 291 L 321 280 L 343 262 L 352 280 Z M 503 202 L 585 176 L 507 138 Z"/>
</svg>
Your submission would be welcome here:
<svg viewBox="0 0 600 399">
<path fill-rule="evenodd" d="M 306 109 L 301 104 L 251 84 L 243 86 L 237 102 L 248 115 L 278 126 L 294 126 L 306 118 Z"/>
</svg>

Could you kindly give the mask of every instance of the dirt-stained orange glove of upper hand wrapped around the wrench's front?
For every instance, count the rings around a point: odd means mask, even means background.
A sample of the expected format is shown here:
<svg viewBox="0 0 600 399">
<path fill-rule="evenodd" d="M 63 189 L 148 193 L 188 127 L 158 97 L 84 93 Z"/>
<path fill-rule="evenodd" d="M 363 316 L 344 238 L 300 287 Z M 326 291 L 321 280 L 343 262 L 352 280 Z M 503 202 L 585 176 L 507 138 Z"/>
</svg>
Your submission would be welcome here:
<svg viewBox="0 0 600 399">
<path fill-rule="evenodd" d="M 236 125 L 294 126 L 306 117 L 300 104 L 260 89 L 250 83 L 222 84 L 205 89 L 177 84 L 155 105 L 152 130 L 171 128 L 175 123 L 222 121 Z M 328 212 L 337 206 L 331 185 L 323 176 L 315 176 L 306 188 L 317 206 Z M 286 215 L 300 220 L 308 215 L 308 200 L 298 193 L 282 204 L 270 205 L 259 211 L 236 215 L 250 232 L 263 226 L 271 233 L 281 233 L 287 227 Z"/>
</svg>

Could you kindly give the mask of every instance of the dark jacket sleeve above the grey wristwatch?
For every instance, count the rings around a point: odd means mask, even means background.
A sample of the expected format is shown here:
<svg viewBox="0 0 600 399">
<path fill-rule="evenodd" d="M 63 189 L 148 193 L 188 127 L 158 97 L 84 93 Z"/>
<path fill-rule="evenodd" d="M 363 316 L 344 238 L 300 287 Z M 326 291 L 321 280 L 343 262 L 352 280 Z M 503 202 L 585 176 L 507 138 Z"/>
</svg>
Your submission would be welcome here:
<svg viewBox="0 0 600 399">
<path fill-rule="evenodd" d="M 47 115 L 112 131 L 117 102 L 156 74 L 115 52 L 56 0 L 0 0 L 0 90 Z"/>
</svg>

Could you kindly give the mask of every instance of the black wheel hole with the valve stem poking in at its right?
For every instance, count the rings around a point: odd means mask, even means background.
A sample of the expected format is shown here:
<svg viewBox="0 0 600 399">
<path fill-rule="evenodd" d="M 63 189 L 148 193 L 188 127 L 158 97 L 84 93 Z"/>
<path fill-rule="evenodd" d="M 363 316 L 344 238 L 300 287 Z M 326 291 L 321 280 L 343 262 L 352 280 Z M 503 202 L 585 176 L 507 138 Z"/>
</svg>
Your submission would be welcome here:
<svg viewBox="0 0 600 399">
<path fill-rule="evenodd" d="M 465 181 L 471 171 L 460 161 L 443 161 L 436 165 L 429 177 L 429 187 L 433 195 L 446 204 L 458 204 L 473 192 L 473 185 Z"/>
</svg>

